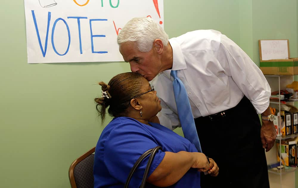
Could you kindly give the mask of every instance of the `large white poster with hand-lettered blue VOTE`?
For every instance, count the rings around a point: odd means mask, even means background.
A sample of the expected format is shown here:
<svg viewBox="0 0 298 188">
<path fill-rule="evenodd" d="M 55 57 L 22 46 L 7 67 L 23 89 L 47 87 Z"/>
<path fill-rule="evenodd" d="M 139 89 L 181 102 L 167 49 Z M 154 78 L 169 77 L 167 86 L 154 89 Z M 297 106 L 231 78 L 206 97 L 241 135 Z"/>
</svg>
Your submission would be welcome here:
<svg viewBox="0 0 298 188">
<path fill-rule="evenodd" d="M 163 0 L 24 0 L 28 63 L 123 61 L 121 28 L 134 17 L 164 27 Z"/>
</svg>

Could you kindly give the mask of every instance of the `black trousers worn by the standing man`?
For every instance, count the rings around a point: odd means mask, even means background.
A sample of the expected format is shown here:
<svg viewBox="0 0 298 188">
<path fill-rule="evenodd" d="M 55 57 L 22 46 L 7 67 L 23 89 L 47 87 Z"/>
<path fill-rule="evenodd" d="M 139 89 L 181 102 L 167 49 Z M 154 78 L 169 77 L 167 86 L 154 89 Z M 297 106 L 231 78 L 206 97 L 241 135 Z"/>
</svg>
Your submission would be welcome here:
<svg viewBox="0 0 298 188">
<path fill-rule="evenodd" d="M 245 96 L 224 117 L 195 118 L 203 153 L 218 164 L 217 177 L 201 174 L 201 187 L 269 188 L 260 119 Z"/>
</svg>

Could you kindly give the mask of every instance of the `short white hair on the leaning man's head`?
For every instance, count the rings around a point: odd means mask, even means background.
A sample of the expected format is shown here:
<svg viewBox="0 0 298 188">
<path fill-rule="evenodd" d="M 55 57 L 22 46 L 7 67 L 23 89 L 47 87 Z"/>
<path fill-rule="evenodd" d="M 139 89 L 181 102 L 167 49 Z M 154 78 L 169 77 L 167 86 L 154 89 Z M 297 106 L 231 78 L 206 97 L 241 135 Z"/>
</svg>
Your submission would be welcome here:
<svg viewBox="0 0 298 188">
<path fill-rule="evenodd" d="M 133 18 L 125 24 L 117 37 L 120 46 L 125 42 L 135 42 L 141 52 L 149 52 L 155 39 L 161 39 L 164 46 L 169 42 L 169 36 L 152 18 Z"/>
</svg>

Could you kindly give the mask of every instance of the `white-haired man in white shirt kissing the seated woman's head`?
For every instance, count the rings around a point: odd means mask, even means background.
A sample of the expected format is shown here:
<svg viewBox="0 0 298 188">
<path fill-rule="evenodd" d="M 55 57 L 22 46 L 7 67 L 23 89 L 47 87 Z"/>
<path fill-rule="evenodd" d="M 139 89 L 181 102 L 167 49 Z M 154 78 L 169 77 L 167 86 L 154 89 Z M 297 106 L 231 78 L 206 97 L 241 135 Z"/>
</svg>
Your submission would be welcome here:
<svg viewBox="0 0 298 188">
<path fill-rule="evenodd" d="M 117 42 L 131 71 L 158 91 L 162 111 L 155 121 L 170 129 L 181 126 L 171 71 L 182 81 L 201 149 L 220 169 L 218 177 L 201 177 L 203 188 L 269 187 L 263 148 L 269 151 L 276 138 L 268 107 L 271 89 L 237 44 L 215 30 L 169 40 L 150 18 L 128 21 Z M 262 126 L 257 114 L 262 114 Z"/>
</svg>

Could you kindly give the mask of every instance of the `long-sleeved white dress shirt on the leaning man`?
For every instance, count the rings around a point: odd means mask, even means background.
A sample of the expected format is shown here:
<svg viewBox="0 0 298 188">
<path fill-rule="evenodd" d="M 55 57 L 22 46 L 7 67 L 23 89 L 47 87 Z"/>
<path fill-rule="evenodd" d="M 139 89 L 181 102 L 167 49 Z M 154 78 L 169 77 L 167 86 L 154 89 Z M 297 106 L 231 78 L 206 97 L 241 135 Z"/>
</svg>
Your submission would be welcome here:
<svg viewBox="0 0 298 188">
<path fill-rule="evenodd" d="M 183 82 L 194 118 L 235 107 L 243 95 L 258 114 L 269 106 L 270 86 L 256 64 L 231 39 L 215 30 L 196 30 L 169 40 L 173 67 Z M 169 129 L 181 127 L 171 70 L 159 73 L 151 85 L 161 100 L 159 121 Z"/>
</svg>

